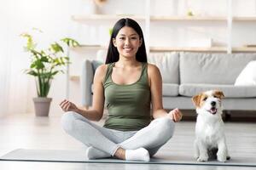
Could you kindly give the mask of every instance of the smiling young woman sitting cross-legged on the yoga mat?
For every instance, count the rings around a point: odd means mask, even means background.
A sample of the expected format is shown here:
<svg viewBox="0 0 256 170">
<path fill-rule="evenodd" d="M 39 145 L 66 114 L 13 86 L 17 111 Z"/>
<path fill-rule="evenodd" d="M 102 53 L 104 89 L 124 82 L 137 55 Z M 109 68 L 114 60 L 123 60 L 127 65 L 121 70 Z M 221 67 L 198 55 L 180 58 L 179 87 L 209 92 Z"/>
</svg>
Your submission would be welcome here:
<svg viewBox="0 0 256 170">
<path fill-rule="evenodd" d="M 178 109 L 163 109 L 160 71 L 147 63 L 143 31 L 135 20 L 121 19 L 113 26 L 106 65 L 96 69 L 93 92 L 90 110 L 66 99 L 60 104 L 66 111 L 62 127 L 88 146 L 89 159 L 149 161 L 172 138 L 174 122 L 182 118 Z M 100 127 L 90 121 L 101 120 L 105 101 L 108 119 Z"/>
</svg>

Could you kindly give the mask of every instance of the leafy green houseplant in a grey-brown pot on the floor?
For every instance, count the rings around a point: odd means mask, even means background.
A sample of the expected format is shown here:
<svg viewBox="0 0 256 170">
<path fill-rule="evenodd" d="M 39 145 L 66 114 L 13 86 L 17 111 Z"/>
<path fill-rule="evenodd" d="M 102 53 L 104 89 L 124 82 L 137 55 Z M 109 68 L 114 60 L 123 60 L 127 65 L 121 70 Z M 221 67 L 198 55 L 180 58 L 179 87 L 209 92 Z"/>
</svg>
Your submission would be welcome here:
<svg viewBox="0 0 256 170">
<path fill-rule="evenodd" d="M 41 31 L 42 32 L 42 31 Z M 69 63 L 64 47 L 79 46 L 79 42 L 65 37 L 59 42 L 49 44 L 47 49 L 38 49 L 31 34 L 23 33 L 21 37 L 26 38 L 25 50 L 31 54 L 30 68 L 25 72 L 35 77 L 37 85 L 37 98 L 33 98 L 36 116 L 48 116 L 51 98 L 48 98 L 49 88 L 55 75 L 64 72 L 63 66 Z"/>
</svg>

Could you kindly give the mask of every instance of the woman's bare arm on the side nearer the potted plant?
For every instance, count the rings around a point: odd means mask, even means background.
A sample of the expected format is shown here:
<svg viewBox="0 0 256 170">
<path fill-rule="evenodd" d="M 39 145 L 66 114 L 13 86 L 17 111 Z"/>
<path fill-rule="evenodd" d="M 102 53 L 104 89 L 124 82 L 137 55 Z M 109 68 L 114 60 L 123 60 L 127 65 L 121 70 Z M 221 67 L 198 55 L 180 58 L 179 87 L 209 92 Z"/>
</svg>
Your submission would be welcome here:
<svg viewBox="0 0 256 170">
<path fill-rule="evenodd" d="M 76 105 L 68 100 L 63 100 L 60 104 L 63 111 L 75 111 L 90 121 L 100 121 L 103 116 L 104 109 L 104 88 L 103 81 L 108 69 L 108 65 L 101 65 L 96 69 L 93 80 L 93 102 L 92 108 L 89 110 L 79 109 Z"/>
</svg>

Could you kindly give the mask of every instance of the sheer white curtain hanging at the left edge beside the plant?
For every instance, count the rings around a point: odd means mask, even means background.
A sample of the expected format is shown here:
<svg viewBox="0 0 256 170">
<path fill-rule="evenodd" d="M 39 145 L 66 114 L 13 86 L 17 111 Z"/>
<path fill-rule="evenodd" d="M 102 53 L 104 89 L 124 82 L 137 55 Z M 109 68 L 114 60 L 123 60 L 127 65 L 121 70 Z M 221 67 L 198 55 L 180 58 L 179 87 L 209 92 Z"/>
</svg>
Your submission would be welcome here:
<svg viewBox="0 0 256 170">
<path fill-rule="evenodd" d="M 28 59 L 20 46 L 18 14 L 13 1 L 0 5 L 0 117 L 27 112 L 29 77 L 23 73 Z M 19 22 L 18 22 L 19 24 Z"/>
</svg>

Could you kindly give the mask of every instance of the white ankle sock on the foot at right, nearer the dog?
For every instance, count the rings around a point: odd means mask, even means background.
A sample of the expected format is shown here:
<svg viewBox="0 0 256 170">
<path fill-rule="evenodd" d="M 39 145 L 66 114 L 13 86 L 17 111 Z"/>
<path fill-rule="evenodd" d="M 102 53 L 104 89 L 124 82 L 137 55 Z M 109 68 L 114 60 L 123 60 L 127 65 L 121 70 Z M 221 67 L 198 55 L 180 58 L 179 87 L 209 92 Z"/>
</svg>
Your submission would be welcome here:
<svg viewBox="0 0 256 170">
<path fill-rule="evenodd" d="M 149 161 L 148 150 L 139 148 L 137 150 L 125 150 L 125 160 L 128 161 Z"/>
</svg>

